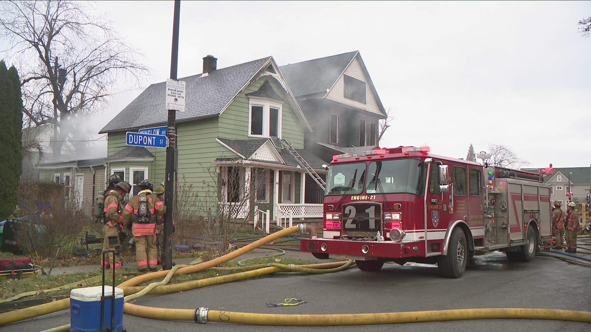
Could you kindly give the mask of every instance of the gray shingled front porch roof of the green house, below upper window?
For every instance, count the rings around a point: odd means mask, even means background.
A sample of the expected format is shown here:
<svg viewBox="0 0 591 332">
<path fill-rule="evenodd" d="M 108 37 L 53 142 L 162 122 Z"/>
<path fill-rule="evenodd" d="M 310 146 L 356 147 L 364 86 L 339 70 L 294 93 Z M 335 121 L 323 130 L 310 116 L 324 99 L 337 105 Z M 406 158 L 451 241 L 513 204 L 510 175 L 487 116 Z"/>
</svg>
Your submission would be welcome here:
<svg viewBox="0 0 591 332">
<path fill-rule="evenodd" d="M 261 147 L 261 145 L 263 145 L 265 142 L 269 140 L 268 138 L 240 140 L 226 138 L 218 139 L 222 141 L 224 144 L 228 145 L 228 147 L 232 148 L 234 151 L 243 155 L 247 159 L 250 158 L 252 154 L 254 154 L 256 149 Z M 310 164 L 312 168 L 322 169 L 322 164 L 326 164 L 326 162 L 316 157 L 316 155 L 312 154 L 309 151 L 300 149 L 296 149 L 296 151 L 298 152 L 298 154 L 301 155 L 302 158 L 304 158 L 308 162 L 308 164 Z M 297 167 L 298 165 L 300 165 L 297 162 L 296 158 L 294 158 L 293 155 L 291 155 L 290 152 L 286 149 L 280 149 L 279 154 L 281 155 L 281 158 L 285 161 L 286 165 L 292 167 Z M 217 158 L 217 160 L 236 160 L 236 158 Z"/>
</svg>

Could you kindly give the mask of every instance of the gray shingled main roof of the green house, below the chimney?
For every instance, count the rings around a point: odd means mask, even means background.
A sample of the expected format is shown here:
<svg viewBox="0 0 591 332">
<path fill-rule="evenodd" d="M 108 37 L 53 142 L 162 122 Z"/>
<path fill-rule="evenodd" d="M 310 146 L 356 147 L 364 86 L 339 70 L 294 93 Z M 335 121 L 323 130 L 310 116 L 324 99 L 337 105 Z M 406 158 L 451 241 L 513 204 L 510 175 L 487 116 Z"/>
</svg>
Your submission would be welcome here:
<svg viewBox="0 0 591 332">
<path fill-rule="evenodd" d="M 179 79 L 187 85 L 185 111 L 177 112 L 177 122 L 219 115 L 269 59 L 271 57 L 214 70 L 205 77 L 197 74 Z M 148 86 L 100 129 L 99 134 L 166 123 L 165 89 L 166 82 Z"/>
</svg>

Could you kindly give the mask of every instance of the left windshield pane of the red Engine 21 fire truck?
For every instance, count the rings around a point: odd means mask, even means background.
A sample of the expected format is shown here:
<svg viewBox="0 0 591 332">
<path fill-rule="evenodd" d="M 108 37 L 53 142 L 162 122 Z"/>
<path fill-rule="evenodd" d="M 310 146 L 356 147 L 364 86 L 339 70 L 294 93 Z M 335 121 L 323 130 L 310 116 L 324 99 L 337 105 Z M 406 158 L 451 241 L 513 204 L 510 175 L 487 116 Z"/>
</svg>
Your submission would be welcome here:
<svg viewBox="0 0 591 332">
<path fill-rule="evenodd" d="M 326 177 L 326 194 L 361 194 L 366 167 L 365 162 L 331 165 Z"/>
</svg>

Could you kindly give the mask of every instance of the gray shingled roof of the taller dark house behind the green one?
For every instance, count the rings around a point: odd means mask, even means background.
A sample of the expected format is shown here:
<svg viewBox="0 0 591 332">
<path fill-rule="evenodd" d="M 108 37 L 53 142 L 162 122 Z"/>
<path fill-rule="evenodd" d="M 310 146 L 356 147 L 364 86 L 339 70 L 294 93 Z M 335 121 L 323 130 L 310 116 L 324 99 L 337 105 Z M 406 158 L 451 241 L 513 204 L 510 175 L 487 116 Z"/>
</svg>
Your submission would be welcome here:
<svg viewBox="0 0 591 332">
<path fill-rule="evenodd" d="M 294 96 L 326 94 L 358 51 L 317 58 L 279 67 Z"/>
</svg>

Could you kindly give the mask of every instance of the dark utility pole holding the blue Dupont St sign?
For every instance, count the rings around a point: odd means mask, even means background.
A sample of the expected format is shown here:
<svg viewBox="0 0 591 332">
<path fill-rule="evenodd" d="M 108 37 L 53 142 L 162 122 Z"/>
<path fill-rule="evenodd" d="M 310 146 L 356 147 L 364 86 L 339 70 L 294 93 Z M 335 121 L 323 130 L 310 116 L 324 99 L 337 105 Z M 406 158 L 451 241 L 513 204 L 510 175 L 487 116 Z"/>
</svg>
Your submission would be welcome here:
<svg viewBox="0 0 591 332">
<path fill-rule="evenodd" d="M 174 0 L 174 18 L 173 18 L 173 47 L 170 54 L 170 78 L 177 79 L 178 64 L 178 25 L 180 21 L 181 1 Z M 176 132 L 176 110 L 168 110 L 167 123 L 168 147 L 166 148 L 166 170 L 164 184 L 164 204 L 166 214 L 164 216 L 164 243 L 162 249 L 162 268 L 170 270 L 173 267 L 173 248 L 171 240 L 173 235 L 173 209 L 174 209 L 174 155 L 177 146 Z"/>
</svg>

